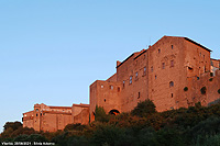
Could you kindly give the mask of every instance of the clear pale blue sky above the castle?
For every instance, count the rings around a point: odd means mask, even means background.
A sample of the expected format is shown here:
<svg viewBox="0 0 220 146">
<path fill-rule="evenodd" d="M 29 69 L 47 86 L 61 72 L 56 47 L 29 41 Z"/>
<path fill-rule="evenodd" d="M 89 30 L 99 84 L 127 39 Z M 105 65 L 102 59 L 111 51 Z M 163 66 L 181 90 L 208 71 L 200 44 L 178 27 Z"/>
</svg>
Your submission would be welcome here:
<svg viewBox="0 0 220 146">
<path fill-rule="evenodd" d="M 220 58 L 220 1 L 1 0 L 0 132 L 35 103 L 89 103 L 89 85 L 164 35 Z"/>
</svg>

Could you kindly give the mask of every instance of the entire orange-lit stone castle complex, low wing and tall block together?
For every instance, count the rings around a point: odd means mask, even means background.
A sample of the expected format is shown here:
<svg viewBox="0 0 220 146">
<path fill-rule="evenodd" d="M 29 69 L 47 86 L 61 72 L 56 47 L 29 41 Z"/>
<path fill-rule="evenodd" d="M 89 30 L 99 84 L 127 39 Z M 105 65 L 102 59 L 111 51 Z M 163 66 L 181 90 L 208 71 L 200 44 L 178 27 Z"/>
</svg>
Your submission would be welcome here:
<svg viewBox="0 0 220 146">
<path fill-rule="evenodd" d="M 72 106 L 35 104 L 23 113 L 23 126 L 55 132 L 67 124 L 88 124 L 96 105 L 106 113 L 129 112 L 150 99 L 157 111 L 208 105 L 220 99 L 220 59 L 210 49 L 187 37 L 163 36 L 147 49 L 117 61 L 117 72 L 90 85 L 90 103 Z"/>
</svg>

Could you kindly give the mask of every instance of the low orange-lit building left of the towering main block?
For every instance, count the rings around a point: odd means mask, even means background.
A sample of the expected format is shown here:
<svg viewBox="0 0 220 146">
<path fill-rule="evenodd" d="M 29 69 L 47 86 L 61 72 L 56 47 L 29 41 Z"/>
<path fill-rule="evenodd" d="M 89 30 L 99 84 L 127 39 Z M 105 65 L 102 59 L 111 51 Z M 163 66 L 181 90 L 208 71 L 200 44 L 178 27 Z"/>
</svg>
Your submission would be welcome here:
<svg viewBox="0 0 220 146">
<path fill-rule="evenodd" d="M 56 132 L 67 124 L 89 122 L 89 105 L 73 104 L 73 106 L 48 106 L 35 104 L 34 110 L 23 113 L 23 126 L 35 131 Z M 86 117 L 85 117 L 86 116 Z"/>
</svg>

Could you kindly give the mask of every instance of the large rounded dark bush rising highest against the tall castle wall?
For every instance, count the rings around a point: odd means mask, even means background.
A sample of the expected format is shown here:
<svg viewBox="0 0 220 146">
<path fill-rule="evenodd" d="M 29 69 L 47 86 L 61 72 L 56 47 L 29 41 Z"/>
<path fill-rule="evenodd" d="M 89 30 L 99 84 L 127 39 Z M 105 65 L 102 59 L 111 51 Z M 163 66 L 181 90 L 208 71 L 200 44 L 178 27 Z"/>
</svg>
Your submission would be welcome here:
<svg viewBox="0 0 220 146">
<path fill-rule="evenodd" d="M 136 115 L 140 117 L 147 117 L 148 115 L 156 113 L 156 106 L 151 100 L 145 100 L 139 102 L 134 110 L 131 111 L 132 115 Z"/>
</svg>

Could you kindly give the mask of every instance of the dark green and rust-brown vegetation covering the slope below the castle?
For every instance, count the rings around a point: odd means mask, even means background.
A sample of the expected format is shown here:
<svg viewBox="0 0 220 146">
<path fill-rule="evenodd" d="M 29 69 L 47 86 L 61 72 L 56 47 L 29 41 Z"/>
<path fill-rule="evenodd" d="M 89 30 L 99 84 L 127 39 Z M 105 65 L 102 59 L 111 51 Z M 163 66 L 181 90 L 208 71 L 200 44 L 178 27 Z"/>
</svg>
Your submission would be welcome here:
<svg viewBox="0 0 220 146">
<path fill-rule="evenodd" d="M 57 146 L 218 146 L 220 144 L 220 104 L 180 108 L 156 112 L 147 100 L 130 113 L 116 116 L 96 109 L 89 125 L 68 124 L 55 133 L 35 132 L 16 123 L 7 123 L 1 142 L 53 142 Z"/>
</svg>

